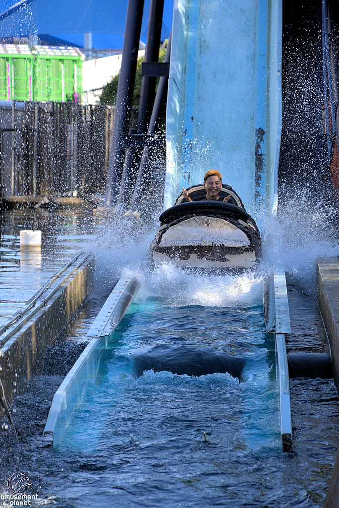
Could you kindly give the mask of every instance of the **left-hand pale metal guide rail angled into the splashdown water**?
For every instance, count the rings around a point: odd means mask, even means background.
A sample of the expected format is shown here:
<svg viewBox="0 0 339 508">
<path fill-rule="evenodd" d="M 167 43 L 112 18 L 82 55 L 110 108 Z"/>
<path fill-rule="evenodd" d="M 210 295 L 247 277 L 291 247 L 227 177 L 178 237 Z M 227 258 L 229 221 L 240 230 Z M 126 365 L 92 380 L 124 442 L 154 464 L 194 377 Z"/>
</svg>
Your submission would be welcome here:
<svg viewBox="0 0 339 508">
<path fill-rule="evenodd" d="M 87 379 L 95 378 L 100 357 L 107 347 L 110 334 L 140 289 L 140 283 L 121 277 L 87 333 L 91 338 L 84 351 L 55 392 L 43 432 L 44 440 L 54 446 L 62 441 L 73 411 L 79 407 Z"/>
</svg>

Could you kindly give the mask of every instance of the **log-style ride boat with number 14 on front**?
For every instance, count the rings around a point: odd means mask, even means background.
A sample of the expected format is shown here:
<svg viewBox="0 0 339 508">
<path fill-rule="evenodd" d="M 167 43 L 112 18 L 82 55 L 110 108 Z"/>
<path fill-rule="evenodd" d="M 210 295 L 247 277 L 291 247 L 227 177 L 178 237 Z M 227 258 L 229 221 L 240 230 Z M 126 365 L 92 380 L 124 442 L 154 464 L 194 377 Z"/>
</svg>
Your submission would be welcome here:
<svg viewBox="0 0 339 508">
<path fill-rule="evenodd" d="M 155 266 L 172 263 L 183 268 L 247 270 L 261 258 L 261 240 L 255 220 L 247 213 L 229 185 L 219 196 L 229 201 L 199 199 L 206 196 L 202 185 L 187 189 L 192 202 L 180 196 L 159 217 L 160 227 L 151 243 Z"/>
</svg>

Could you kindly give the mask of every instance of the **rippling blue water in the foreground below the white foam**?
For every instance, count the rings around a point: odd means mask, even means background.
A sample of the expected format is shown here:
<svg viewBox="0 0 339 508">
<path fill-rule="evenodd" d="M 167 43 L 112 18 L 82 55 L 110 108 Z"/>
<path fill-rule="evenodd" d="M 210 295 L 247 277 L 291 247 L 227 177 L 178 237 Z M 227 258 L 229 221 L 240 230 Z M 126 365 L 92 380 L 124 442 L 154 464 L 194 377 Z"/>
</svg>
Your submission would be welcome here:
<svg viewBox="0 0 339 508">
<path fill-rule="evenodd" d="M 67 344 L 85 336 L 102 303 L 85 304 Z M 227 373 L 137 376 L 140 348 L 179 344 L 246 357 L 242 382 Z M 339 438 L 335 388 L 332 380 L 291 380 L 294 447 L 283 453 L 260 305 L 225 310 L 141 295 L 112 335 L 63 445 L 41 448 L 59 372 L 38 376 L 16 400 L 20 443 L 10 429 L 2 433 L 2 479 L 27 470 L 44 504 L 322 506 Z"/>
</svg>

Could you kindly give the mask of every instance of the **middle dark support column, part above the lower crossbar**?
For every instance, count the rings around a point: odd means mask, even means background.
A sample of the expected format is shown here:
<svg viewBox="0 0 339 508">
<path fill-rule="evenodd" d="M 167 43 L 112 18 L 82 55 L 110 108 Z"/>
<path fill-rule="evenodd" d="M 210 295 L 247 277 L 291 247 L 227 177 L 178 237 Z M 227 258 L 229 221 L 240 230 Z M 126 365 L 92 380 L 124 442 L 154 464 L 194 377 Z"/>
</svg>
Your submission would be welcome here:
<svg viewBox="0 0 339 508">
<path fill-rule="evenodd" d="M 157 62 L 159 60 L 163 4 L 164 0 L 151 0 L 145 62 Z M 147 76 L 142 78 L 138 115 L 138 134 L 145 134 L 147 132 L 152 114 L 155 87 L 156 78 L 149 78 Z"/>
</svg>

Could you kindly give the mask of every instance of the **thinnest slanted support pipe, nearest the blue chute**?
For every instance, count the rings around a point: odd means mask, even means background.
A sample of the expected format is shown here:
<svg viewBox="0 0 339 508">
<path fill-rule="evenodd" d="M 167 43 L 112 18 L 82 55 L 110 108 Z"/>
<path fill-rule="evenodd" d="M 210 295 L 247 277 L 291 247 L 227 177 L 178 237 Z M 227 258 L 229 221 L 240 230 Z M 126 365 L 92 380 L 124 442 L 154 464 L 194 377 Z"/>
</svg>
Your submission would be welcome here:
<svg viewBox="0 0 339 508">
<path fill-rule="evenodd" d="M 171 44 L 172 44 L 172 32 L 171 32 L 171 35 L 169 36 L 169 39 L 168 39 L 168 45 L 167 45 L 166 54 L 165 54 L 165 58 L 164 58 L 165 62 L 169 62 L 169 60 L 171 59 Z M 155 97 L 155 101 L 154 101 L 154 107 L 153 107 L 153 111 L 152 111 L 152 115 L 151 115 L 151 119 L 150 119 L 150 123 L 149 123 L 149 128 L 148 128 L 148 132 L 147 132 L 147 134 L 149 134 L 149 135 L 155 134 L 155 130 L 157 128 L 158 122 L 161 117 L 163 103 L 164 103 L 164 100 L 165 100 L 165 97 L 167 94 L 167 87 L 168 87 L 168 78 L 161 77 L 159 80 L 159 85 L 158 85 L 158 89 L 157 89 L 157 93 L 156 93 L 156 97 Z M 152 150 L 152 147 L 145 146 L 144 151 L 143 151 L 143 155 L 142 155 L 142 159 L 141 159 L 141 163 L 140 163 L 140 167 L 139 167 L 139 171 L 138 171 L 137 181 L 135 182 L 134 194 L 133 194 L 133 198 L 132 198 L 132 202 L 131 202 L 132 208 L 137 208 L 137 209 L 139 208 L 141 198 L 144 195 L 144 193 L 147 192 L 147 187 L 149 186 L 150 176 L 151 176 L 150 175 L 150 167 L 149 167 L 150 166 L 149 165 L 149 158 L 150 158 L 151 150 Z M 121 190 L 123 190 L 123 189 L 121 189 Z"/>
</svg>

